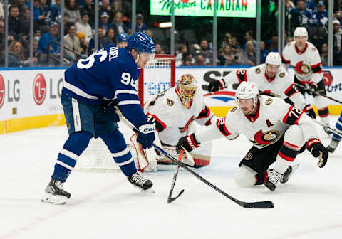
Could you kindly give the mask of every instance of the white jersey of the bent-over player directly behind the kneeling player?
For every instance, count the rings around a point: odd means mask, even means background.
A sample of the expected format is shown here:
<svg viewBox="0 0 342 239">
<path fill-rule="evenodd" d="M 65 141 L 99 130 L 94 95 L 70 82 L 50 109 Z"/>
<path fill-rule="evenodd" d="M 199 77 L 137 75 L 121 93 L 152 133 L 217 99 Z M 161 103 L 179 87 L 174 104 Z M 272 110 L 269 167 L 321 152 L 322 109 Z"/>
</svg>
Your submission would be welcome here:
<svg viewBox="0 0 342 239">
<path fill-rule="evenodd" d="M 261 64 L 247 70 L 232 71 L 224 77 L 224 84 L 242 83 L 242 81 L 254 82 L 259 90 L 265 93 L 275 93 L 282 99 L 289 97 L 295 107 L 303 110 L 306 105 L 304 96 L 296 89 L 294 81 L 282 66 L 274 78 L 266 74 L 266 64 Z"/>
</svg>

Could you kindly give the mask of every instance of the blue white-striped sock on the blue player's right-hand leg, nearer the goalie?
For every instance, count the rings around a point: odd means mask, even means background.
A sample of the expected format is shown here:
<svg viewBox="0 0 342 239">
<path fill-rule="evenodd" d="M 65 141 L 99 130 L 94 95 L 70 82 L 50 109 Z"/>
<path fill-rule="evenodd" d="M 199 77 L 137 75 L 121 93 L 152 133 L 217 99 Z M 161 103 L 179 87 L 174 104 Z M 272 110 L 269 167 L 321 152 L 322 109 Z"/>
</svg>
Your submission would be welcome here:
<svg viewBox="0 0 342 239">
<path fill-rule="evenodd" d="M 115 163 L 120 167 L 125 176 L 130 176 L 137 172 L 130 150 L 120 131 L 115 130 L 109 134 L 104 134 L 101 136 L 101 139 L 107 144 Z"/>
</svg>

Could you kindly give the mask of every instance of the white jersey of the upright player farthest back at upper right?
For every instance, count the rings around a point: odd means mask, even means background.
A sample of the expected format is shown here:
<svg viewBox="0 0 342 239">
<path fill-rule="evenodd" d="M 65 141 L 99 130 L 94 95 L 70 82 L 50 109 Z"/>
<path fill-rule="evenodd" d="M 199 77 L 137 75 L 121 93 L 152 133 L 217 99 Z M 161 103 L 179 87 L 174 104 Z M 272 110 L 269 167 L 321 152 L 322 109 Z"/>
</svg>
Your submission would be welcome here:
<svg viewBox="0 0 342 239">
<path fill-rule="evenodd" d="M 287 43 L 281 55 L 284 67 L 287 69 L 289 64 L 294 68 L 296 78 L 302 84 L 313 81 L 318 84 L 323 79 L 321 57 L 314 44 L 306 42 L 303 51 L 299 51 L 296 41 Z"/>
</svg>

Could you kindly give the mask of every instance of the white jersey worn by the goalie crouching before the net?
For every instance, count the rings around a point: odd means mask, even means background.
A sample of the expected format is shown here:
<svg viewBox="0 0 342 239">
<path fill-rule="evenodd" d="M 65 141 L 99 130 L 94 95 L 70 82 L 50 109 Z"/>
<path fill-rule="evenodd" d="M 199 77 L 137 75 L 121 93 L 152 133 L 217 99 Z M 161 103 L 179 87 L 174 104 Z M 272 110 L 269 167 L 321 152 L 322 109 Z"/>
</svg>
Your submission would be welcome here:
<svg viewBox="0 0 342 239">
<path fill-rule="evenodd" d="M 144 107 L 147 119 L 152 118 L 156 124 L 160 141 L 170 146 L 175 146 L 180 137 L 187 135 L 187 129 L 192 120 L 201 125 L 209 125 L 214 116 L 204 105 L 202 92 L 197 90 L 190 109 L 187 109 L 182 105 L 175 90 L 176 87 L 171 87 L 160 92 Z"/>
</svg>

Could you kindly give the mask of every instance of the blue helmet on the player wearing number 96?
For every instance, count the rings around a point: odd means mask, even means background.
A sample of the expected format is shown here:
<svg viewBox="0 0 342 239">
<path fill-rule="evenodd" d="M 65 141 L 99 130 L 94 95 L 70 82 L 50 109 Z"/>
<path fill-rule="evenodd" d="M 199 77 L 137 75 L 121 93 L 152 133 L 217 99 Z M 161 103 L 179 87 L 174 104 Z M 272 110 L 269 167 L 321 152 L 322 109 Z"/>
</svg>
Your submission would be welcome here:
<svg viewBox="0 0 342 239">
<path fill-rule="evenodd" d="M 145 33 L 137 32 L 128 38 L 128 50 L 135 49 L 139 53 L 155 53 L 155 43 L 152 38 Z"/>
</svg>

